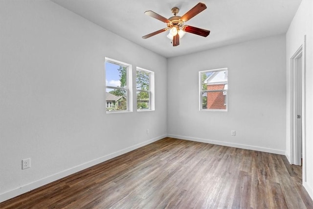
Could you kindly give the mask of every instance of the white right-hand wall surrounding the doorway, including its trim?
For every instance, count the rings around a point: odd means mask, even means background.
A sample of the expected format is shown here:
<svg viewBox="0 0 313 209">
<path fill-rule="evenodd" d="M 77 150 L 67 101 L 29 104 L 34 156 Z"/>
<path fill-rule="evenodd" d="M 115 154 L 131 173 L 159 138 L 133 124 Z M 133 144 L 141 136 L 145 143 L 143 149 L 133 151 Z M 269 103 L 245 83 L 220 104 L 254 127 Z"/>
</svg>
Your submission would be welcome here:
<svg viewBox="0 0 313 209">
<path fill-rule="evenodd" d="M 287 72 L 287 100 L 286 100 L 286 156 L 291 156 L 290 136 L 290 62 L 292 55 L 304 44 L 306 35 L 306 103 L 305 120 L 306 131 L 303 137 L 306 139 L 306 146 L 303 153 L 303 186 L 313 198 L 313 1 L 302 0 L 296 15 L 294 16 L 286 34 L 286 72 Z"/>
</svg>

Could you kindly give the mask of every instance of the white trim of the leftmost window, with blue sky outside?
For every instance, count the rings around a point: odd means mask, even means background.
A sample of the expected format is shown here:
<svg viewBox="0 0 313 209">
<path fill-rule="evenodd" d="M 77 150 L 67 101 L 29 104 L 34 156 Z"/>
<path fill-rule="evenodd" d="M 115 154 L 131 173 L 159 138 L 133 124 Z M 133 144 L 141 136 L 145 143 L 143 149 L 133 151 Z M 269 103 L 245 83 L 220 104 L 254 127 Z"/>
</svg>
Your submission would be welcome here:
<svg viewBox="0 0 313 209">
<path fill-rule="evenodd" d="M 124 63 L 118 60 L 114 60 L 108 57 L 105 57 L 105 62 L 111 62 L 117 65 L 121 65 L 121 66 L 125 66 L 127 69 L 127 89 L 125 88 L 120 88 L 120 87 L 112 87 L 112 86 L 107 86 L 106 84 L 106 89 L 105 91 L 107 91 L 107 89 L 123 89 L 127 91 L 127 108 L 126 110 L 118 110 L 118 111 L 106 111 L 107 114 L 110 113 L 129 113 L 129 112 L 133 112 L 133 68 L 131 64 L 128 63 Z M 106 81 L 106 71 L 104 71 L 104 80 Z"/>
</svg>

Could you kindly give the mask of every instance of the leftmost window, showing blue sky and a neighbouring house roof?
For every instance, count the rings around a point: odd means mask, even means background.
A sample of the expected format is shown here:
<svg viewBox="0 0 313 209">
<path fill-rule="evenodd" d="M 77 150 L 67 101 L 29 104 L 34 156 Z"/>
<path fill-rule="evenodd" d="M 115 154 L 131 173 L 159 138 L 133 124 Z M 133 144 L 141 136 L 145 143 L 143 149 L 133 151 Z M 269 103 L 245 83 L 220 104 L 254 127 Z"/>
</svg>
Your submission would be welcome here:
<svg viewBox="0 0 313 209">
<path fill-rule="evenodd" d="M 132 107 L 132 66 L 106 58 L 107 113 L 130 112 Z"/>
</svg>

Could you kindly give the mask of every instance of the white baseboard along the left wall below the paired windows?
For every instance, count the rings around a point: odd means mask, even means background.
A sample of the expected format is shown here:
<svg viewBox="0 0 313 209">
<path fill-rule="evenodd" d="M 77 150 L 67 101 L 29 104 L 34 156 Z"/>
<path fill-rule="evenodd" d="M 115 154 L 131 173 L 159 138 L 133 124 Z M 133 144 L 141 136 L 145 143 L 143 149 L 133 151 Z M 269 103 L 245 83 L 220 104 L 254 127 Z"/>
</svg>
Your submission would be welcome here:
<svg viewBox="0 0 313 209">
<path fill-rule="evenodd" d="M 75 167 L 71 167 L 71 168 L 69 168 L 67 170 L 61 171 L 61 172 L 53 174 L 51 176 L 47 176 L 47 177 L 45 177 L 43 179 L 40 179 L 40 180 L 37 180 L 35 182 L 31 182 L 29 184 L 22 185 L 22 186 L 20 186 L 18 188 L 10 190 L 10 191 L 1 193 L 0 194 L 0 202 L 4 202 L 4 201 L 9 200 L 9 199 L 11 199 L 13 197 L 19 196 L 19 195 L 21 195 L 21 194 L 23 194 L 25 192 L 28 192 L 28 191 L 33 190 L 35 188 L 38 188 L 40 186 L 44 186 L 44 185 L 49 184 L 51 182 L 54 182 L 56 180 L 62 179 L 64 177 L 68 176 L 68 175 L 71 175 L 71 174 L 76 173 L 78 171 L 84 170 L 84 169 L 89 168 L 89 167 L 91 167 L 93 165 L 105 162 L 107 160 L 110 160 L 110 159 L 115 158 L 115 157 L 117 157 L 119 155 L 125 154 L 127 152 L 130 152 L 130 151 L 132 151 L 134 149 L 137 149 L 139 147 L 145 146 L 145 145 L 150 144 L 152 142 L 155 142 L 157 140 L 163 139 L 165 137 L 167 137 L 167 135 L 162 135 L 162 136 L 156 137 L 154 139 L 150 139 L 150 140 L 147 140 L 147 141 L 135 144 L 135 145 L 130 146 L 128 148 L 119 150 L 117 152 L 113 152 L 111 154 L 108 154 L 108 155 L 105 155 L 103 157 L 94 159 L 94 160 L 89 161 L 87 163 L 83 163 L 83 164 L 77 165 Z"/>
</svg>

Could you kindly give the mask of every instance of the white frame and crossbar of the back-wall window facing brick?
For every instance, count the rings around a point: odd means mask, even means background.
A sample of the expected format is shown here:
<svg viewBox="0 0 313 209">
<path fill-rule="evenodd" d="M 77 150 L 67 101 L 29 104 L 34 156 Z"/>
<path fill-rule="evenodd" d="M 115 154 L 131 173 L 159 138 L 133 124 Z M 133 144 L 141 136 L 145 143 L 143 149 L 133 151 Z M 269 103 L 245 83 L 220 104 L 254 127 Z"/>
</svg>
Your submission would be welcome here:
<svg viewBox="0 0 313 209">
<path fill-rule="evenodd" d="M 226 71 L 227 72 L 227 82 L 225 84 L 225 85 L 227 85 L 227 88 L 221 89 L 221 90 L 202 90 L 202 73 L 218 72 L 218 71 Z M 228 112 L 228 87 L 229 87 L 229 84 L 228 84 L 228 68 L 199 71 L 199 111 Z M 202 108 L 202 95 L 203 95 L 203 93 L 206 93 L 206 96 L 207 96 L 207 94 L 210 92 L 223 92 L 224 105 L 226 106 L 226 109 L 203 109 Z M 224 94 L 224 92 L 226 94 Z"/>
</svg>

